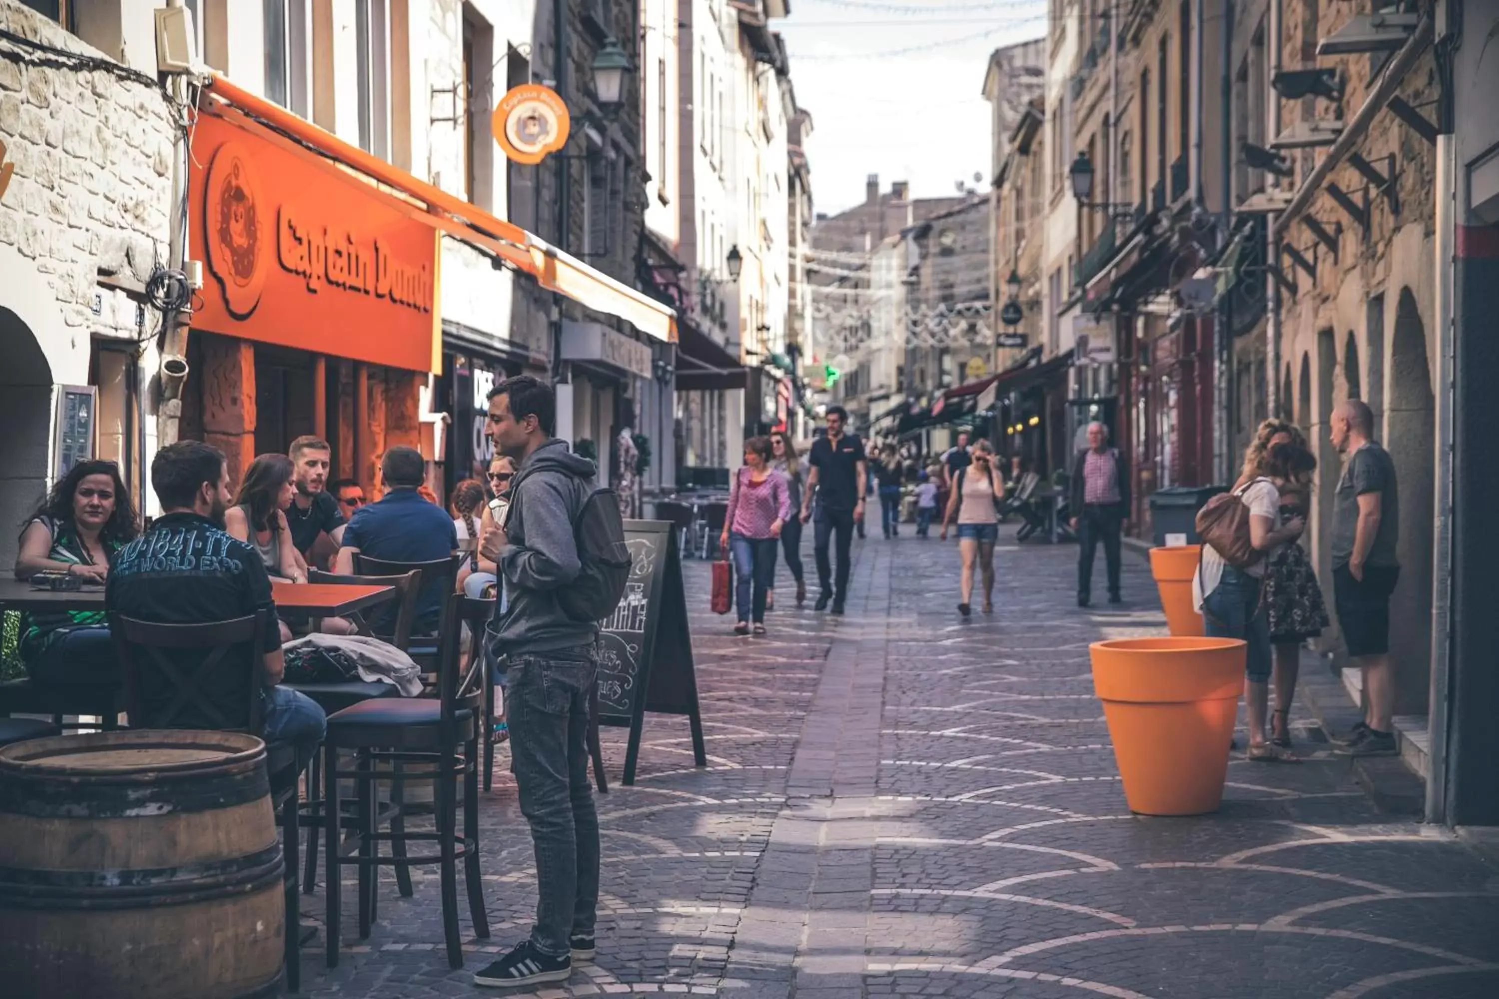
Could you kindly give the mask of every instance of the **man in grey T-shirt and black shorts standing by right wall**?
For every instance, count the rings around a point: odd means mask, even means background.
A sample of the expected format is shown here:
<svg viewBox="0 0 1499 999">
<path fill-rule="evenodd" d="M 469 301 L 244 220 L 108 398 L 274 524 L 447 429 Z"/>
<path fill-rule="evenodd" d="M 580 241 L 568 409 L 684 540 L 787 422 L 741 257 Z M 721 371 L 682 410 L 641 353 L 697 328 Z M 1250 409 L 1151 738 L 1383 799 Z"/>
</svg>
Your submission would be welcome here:
<svg viewBox="0 0 1499 999">
<path fill-rule="evenodd" d="M 1375 415 L 1366 403 L 1351 398 L 1333 410 L 1333 446 L 1346 457 L 1333 497 L 1333 601 L 1349 662 L 1364 674 L 1364 720 L 1339 750 L 1351 756 L 1399 752 L 1390 595 L 1400 578 L 1400 490 L 1396 463 L 1373 434 Z"/>
</svg>

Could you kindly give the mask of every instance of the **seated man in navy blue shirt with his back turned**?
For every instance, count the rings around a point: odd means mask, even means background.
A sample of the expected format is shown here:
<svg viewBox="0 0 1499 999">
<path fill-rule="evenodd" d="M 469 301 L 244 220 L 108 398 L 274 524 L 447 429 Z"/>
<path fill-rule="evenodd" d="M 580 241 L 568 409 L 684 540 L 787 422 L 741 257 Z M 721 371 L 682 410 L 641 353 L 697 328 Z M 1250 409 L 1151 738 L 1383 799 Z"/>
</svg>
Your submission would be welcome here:
<svg viewBox="0 0 1499 999">
<path fill-rule="evenodd" d="M 459 548 L 453 518 L 417 493 L 417 487 L 427 479 L 421 452 L 415 448 L 391 448 L 381 460 L 379 470 L 385 481 L 385 496 L 361 506 L 343 529 L 336 572 L 351 575 L 355 554 L 382 562 L 436 562 L 453 556 Z M 412 631 L 436 631 L 445 596 L 441 581 L 423 589 Z M 382 632 L 393 629 L 393 616 L 394 610 L 387 608 L 385 620 L 376 620 L 375 628 Z"/>
</svg>

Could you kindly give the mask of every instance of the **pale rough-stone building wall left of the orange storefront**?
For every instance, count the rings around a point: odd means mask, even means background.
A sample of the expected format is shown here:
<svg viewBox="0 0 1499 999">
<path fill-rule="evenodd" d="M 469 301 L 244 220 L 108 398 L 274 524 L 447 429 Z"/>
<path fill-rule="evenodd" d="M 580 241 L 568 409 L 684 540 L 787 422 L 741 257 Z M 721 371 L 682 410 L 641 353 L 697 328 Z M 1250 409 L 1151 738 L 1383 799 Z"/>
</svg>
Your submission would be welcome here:
<svg viewBox="0 0 1499 999">
<path fill-rule="evenodd" d="M 142 470 L 162 316 L 141 289 L 168 265 L 180 117 L 156 85 L 154 46 L 127 45 L 120 63 L 79 37 L 88 27 L 0 0 L 0 28 L 24 39 L 0 40 L 0 142 L 15 166 L 0 199 L 0 565 L 58 472 L 61 386 L 97 389 L 99 455 L 154 503 Z"/>
</svg>

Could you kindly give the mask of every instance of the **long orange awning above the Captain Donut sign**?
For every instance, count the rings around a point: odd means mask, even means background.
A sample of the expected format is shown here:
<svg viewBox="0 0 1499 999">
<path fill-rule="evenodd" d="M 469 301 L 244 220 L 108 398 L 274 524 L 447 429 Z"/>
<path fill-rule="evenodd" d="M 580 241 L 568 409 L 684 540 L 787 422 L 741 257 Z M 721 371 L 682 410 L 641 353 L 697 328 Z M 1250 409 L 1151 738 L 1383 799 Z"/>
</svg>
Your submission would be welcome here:
<svg viewBox="0 0 1499 999">
<path fill-rule="evenodd" d="M 618 316 L 649 337 L 666 343 L 676 341 L 676 312 L 670 306 L 616 282 L 541 237 L 349 145 L 331 132 L 231 84 L 217 73 L 202 87 L 201 100 L 210 99 L 214 112 L 237 120 L 241 127 L 279 133 L 301 148 L 339 163 L 366 183 L 388 187 L 387 193 L 405 201 L 412 217 L 423 219 L 439 232 L 489 250 L 511 268 L 529 274 L 541 288 L 595 312 Z"/>
</svg>

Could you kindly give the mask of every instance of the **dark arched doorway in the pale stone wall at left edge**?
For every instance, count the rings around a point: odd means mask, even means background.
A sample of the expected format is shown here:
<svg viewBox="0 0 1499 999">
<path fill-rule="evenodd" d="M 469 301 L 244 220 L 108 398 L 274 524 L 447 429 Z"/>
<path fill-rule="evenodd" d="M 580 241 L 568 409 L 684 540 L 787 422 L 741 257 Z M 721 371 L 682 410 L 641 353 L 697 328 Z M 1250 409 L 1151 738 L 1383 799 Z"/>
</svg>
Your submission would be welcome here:
<svg viewBox="0 0 1499 999">
<path fill-rule="evenodd" d="M 0 571 L 15 562 L 21 518 L 46 491 L 52 368 L 31 328 L 0 307 Z"/>
</svg>

